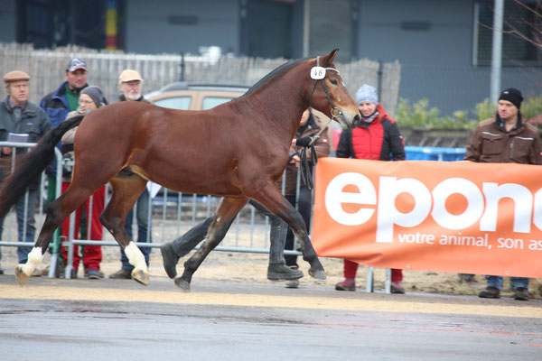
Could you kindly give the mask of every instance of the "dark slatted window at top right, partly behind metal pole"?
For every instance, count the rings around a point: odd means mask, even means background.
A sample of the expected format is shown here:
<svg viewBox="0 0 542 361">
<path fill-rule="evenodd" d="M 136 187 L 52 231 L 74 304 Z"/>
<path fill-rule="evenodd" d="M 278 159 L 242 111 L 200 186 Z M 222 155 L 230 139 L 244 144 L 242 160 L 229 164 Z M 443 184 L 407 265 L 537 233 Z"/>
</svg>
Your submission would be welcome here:
<svg viewBox="0 0 542 361">
<path fill-rule="evenodd" d="M 537 0 L 527 0 L 518 4 L 504 2 L 502 34 L 502 65 L 504 66 L 542 66 L 542 49 L 532 42 L 542 43 L 542 5 Z M 491 65 L 493 32 L 493 0 L 475 3 L 474 65 Z M 518 32 L 513 34 L 510 32 Z M 520 34 L 520 35 L 519 35 Z M 524 36 L 526 39 L 522 39 Z"/>
</svg>

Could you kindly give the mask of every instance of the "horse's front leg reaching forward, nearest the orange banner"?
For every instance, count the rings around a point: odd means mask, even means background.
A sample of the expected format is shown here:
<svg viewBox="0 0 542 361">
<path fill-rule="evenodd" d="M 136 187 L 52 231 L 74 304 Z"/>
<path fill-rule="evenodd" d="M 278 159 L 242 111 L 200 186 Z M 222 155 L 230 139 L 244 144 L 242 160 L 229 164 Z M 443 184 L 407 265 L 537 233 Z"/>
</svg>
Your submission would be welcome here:
<svg viewBox="0 0 542 361">
<path fill-rule="evenodd" d="M 304 219 L 297 209 L 285 199 L 274 184 L 267 186 L 252 198 L 263 204 L 268 210 L 275 213 L 276 216 L 282 218 L 292 228 L 301 245 L 303 259 L 311 265 L 309 274 L 318 280 L 325 280 L 323 266 L 307 234 Z"/>
</svg>

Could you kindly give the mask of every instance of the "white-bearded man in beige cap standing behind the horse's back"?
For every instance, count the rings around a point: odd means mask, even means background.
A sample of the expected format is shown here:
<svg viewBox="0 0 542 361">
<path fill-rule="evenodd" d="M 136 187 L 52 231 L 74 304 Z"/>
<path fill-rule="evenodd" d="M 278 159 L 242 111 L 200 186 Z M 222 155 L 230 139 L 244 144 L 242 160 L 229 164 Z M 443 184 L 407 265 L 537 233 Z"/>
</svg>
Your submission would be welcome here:
<svg viewBox="0 0 542 361">
<path fill-rule="evenodd" d="M 118 90 L 120 95 L 118 101 L 138 101 L 142 103 L 150 103 L 142 93 L 143 78 L 137 70 L 125 69 L 120 73 L 118 77 Z M 123 172 L 131 172 L 123 170 Z M 152 242 L 152 230 L 151 230 L 151 212 L 150 212 L 151 197 L 149 191 L 145 188 L 141 196 L 137 199 L 136 214 L 137 219 L 137 242 Z M 125 229 L 130 239 L 134 239 L 132 232 L 132 225 L 134 223 L 134 209 L 131 209 L 126 216 Z M 150 247 L 141 247 L 139 250 L 145 255 L 145 262 L 149 264 L 149 257 L 151 254 Z M 116 273 L 109 274 L 109 278 L 113 279 L 132 279 L 132 270 L 134 266 L 128 262 L 124 251 L 120 250 L 120 262 L 122 263 L 120 270 Z"/>
</svg>

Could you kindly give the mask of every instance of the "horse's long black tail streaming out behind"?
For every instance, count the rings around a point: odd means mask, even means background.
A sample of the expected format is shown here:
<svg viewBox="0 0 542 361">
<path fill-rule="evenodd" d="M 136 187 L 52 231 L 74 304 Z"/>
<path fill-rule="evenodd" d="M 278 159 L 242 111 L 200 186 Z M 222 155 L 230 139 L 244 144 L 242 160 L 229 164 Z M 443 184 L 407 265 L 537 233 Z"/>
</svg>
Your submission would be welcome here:
<svg viewBox="0 0 542 361">
<path fill-rule="evenodd" d="M 14 172 L 5 179 L 0 189 L 0 218 L 4 218 L 15 202 L 23 197 L 24 192 L 36 180 L 47 165 L 54 159 L 54 147 L 61 141 L 62 135 L 78 126 L 84 116 L 73 116 L 52 128 L 36 144 L 30 153 L 23 154 L 15 166 Z"/>
</svg>

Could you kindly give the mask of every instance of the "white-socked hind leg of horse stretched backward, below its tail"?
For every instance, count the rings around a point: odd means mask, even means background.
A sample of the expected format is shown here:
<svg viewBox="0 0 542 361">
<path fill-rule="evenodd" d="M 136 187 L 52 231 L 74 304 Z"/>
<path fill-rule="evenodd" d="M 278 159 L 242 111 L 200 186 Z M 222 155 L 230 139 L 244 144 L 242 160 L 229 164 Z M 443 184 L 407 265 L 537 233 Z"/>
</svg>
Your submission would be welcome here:
<svg viewBox="0 0 542 361">
<path fill-rule="evenodd" d="M 43 255 L 47 251 L 47 246 L 51 243 L 52 235 L 56 228 L 60 227 L 62 221 L 66 219 L 75 208 L 92 194 L 94 190 L 82 187 L 71 186 L 59 199 L 54 200 L 47 208 L 47 216 L 43 222 L 40 235 L 28 254 L 26 264 L 18 264 L 15 268 L 15 276 L 19 284 L 26 282 L 34 270 L 42 263 Z"/>
</svg>

